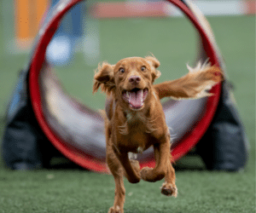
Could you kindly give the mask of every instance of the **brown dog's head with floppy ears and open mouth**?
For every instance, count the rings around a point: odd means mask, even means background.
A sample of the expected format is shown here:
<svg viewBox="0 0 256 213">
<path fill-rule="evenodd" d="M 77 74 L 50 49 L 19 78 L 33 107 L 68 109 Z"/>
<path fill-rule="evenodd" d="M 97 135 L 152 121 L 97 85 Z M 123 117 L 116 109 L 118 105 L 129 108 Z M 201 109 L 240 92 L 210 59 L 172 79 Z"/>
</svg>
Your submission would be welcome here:
<svg viewBox="0 0 256 213">
<path fill-rule="evenodd" d="M 140 110 L 154 80 L 160 77 L 158 66 L 159 60 L 152 56 L 125 58 L 116 65 L 103 62 L 95 74 L 93 92 L 101 86 L 103 92 L 119 96 L 132 110 Z"/>
</svg>

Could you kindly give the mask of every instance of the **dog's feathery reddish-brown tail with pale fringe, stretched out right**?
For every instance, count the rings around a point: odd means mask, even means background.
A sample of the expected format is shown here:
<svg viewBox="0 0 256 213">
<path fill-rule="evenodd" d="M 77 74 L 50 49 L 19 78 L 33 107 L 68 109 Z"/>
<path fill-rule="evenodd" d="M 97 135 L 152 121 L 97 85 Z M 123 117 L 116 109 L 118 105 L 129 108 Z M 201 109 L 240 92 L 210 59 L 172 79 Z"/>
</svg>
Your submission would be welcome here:
<svg viewBox="0 0 256 213">
<path fill-rule="evenodd" d="M 167 81 L 154 85 L 160 99 L 172 97 L 172 99 L 198 99 L 211 96 L 209 90 L 212 86 L 221 82 L 223 72 L 218 66 L 211 66 L 205 62 L 199 62 L 195 68 L 188 66 L 189 73 L 173 81 Z"/>
</svg>

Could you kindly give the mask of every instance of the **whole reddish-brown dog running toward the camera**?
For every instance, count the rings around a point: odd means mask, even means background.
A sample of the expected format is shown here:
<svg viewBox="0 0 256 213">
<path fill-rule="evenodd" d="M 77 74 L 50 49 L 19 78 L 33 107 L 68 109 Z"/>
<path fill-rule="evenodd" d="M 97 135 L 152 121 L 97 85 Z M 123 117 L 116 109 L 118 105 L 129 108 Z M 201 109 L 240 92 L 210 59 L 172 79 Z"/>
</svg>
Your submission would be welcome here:
<svg viewBox="0 0 256 213">
<path fill-rule="evenodd" d="M 93 92 L 99 87 L 107 93 L 105 130 L 107 163 L 115 181 L 115 197 L 110 213 L 124 212 L 123 176 L 131 183 L 160 181 L 165 177 L 161 193 L 177 196 L 175 171 L 170 153 L 170 133 L 160 99 L 201 98 L 222 80 L 217 66 L 198 64 L 183 78 L 153 85 L 160 77 L 160 62 L 152 56 L 119 60 L 116 65 L 103 62 L 95 74 Z M 128 153 L 143 153 L 154 147 L 155 167 L 140 170 L 137 160 Z"/>
</svg>

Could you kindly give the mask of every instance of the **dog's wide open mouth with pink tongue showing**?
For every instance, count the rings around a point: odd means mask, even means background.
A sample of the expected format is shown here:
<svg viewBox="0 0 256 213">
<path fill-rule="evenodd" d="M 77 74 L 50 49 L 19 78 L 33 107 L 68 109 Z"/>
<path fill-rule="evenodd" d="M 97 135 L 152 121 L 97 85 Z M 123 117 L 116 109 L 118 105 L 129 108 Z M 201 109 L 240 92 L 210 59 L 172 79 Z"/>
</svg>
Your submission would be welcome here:
<svg viewBox="0 0 256 213">
<path fill-rule="evenodd" d="M 129 103 L 132 109 L 140 109 L 144 105 L 144 101 L 148 95 L 148 89 L 131 89 L 130 91 L 124 90 L 123 99 Z"/>
</svg>

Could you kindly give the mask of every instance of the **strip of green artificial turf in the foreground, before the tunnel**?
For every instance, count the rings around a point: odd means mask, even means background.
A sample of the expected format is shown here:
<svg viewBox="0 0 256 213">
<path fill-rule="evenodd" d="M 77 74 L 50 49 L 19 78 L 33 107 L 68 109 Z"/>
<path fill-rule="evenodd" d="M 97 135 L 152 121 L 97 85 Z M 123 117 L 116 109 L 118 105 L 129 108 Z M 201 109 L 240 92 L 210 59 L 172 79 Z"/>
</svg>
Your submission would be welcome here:
<svg viewBox="0 0 256 213">
<path fill-rule="evenodd" d="M 125 180 L 125 212 L 253 212 L 252 173 L 177 172 L 176 199 L 160 194 L 162 181 Z M 113 177 L 80 170 L 9 171 L 0 175 L 0 212 L 108 212 Z"/>
</svg>

